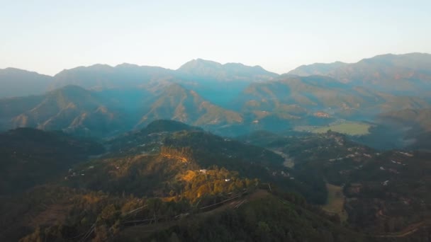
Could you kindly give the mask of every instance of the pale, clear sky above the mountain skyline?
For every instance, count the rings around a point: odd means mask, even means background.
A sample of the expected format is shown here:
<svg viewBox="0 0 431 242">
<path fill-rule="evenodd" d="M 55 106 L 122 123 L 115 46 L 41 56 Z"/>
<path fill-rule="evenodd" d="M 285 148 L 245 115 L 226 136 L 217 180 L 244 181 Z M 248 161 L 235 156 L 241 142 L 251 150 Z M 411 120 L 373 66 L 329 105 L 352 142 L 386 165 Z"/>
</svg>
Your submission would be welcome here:
<svg viewBox="0 0 431 242">
<path fill-rule="evenodd" d="M 431 53 L 431 1 L 0 0 L 0 69 L 54 75 L 191 59 L 282 74 L 315 62 Z"/>
</svg>

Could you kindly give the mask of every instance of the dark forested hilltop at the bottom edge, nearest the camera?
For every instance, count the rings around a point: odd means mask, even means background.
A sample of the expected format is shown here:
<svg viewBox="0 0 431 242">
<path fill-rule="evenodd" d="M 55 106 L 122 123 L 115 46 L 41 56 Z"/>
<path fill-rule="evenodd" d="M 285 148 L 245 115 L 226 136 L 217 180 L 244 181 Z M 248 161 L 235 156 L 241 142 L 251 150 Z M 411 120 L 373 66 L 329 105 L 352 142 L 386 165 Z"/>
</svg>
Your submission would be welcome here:
<svg viewBox="0 0 431 242">
<path fill-rule="evenodd" d="M 365 241 L 352 231 L 325 221 L 272 195 L 239 209 L 185 221 L 152 236 L 155 241 Z"/>
</svg>

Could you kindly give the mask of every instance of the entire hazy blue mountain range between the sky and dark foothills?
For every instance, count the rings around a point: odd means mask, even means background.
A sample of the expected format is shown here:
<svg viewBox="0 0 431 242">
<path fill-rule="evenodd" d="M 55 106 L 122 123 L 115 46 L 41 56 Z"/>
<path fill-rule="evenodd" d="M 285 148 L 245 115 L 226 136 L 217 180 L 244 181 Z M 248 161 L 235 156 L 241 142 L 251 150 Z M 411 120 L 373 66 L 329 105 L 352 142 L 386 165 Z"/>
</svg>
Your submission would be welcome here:
<svg viewBox="0 0 431 242">
<path fill-rule="evenodd" d="M 95 64 L 44 76 L 4 69 L 2 86 L 26 76 L 21 86 L 28 88 L 4 93 L 0 129 L 38 127 L 110 137 L 172 119 L 235 136 L 340 119 L 374 122 L 381 113 L 430 108 L 430 63 L 430 54 L 411 53 L 312 64 L 282 75 L 203 59 L 177 70 Z M 22 97 L 6 98 L 16 95 Z"/>
</svg>

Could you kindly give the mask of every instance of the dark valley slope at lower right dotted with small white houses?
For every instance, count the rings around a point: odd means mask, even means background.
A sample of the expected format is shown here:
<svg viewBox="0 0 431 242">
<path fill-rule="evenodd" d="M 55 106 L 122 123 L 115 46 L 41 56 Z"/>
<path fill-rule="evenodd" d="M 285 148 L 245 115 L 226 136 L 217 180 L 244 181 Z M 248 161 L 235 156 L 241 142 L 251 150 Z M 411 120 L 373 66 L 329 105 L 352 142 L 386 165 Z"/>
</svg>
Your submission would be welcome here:
<svg viewBox="0 0 431 242">
<path fill-rule="evenodd" d="M 328 199 L 328 207 L 356 229 L 396 235 L 429 225 L 431 153 L 376 151 L 335 132 L 301 137 L 259 132 L 242 139 L 262 140 L 257 137 L 267 137 L 262 145 L 284 156 L 296 179 L 313 175 L 337 189 L 340 199 Z"/>
</svg>

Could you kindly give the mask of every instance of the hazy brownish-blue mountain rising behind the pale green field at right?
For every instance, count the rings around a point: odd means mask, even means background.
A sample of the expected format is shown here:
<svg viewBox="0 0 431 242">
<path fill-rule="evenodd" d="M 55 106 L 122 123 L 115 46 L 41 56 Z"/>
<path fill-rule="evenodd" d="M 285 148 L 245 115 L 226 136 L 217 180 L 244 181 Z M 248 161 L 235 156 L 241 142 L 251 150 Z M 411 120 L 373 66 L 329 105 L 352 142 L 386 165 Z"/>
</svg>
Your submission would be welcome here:
<svg viewBox="0 0 431 242">
<path fill-rule="evenodd" d="M 234 103 L 242 112 L 254 113 L 258 120 L 271 114 L 299 120 L 316 112 L 338 118 L 367 119 L 403 107 L 429 106 L 422 98 L 354 87 L 327 76 L 281 76 L 276 81 L 254 83 Z"/>
</svg>

